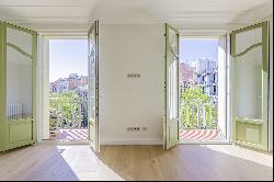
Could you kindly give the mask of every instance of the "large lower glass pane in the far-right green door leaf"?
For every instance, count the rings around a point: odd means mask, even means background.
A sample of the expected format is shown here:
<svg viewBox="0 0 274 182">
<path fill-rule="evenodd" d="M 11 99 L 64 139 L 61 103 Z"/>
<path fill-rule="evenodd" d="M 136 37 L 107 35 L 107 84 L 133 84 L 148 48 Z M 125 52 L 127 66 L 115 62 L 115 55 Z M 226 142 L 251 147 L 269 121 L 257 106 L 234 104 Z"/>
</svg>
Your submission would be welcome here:
<svg viewBox="0 0 274 182">
<path fill-rule="evenodd" d="M 236 115 L 262 120 L 262 46 L 236 58 Z"/>
</svg>

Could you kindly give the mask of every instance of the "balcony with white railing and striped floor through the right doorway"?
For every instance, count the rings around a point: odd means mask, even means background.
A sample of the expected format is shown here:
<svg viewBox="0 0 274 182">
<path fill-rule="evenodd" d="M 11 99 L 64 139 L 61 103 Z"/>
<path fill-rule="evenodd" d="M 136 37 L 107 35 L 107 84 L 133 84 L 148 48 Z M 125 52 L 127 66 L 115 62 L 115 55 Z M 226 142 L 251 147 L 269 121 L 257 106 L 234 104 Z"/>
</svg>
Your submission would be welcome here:
<svg viewBox="0 0 274 182">
<path fill-rule="evenodd" d="M 199 100 L 183 102 L 181 105 L 181 133 L 182 140 L 224 140 L 225 137 L 218 128 L 218 103 L 209 101 L 202 103 Z"/>
</svg>

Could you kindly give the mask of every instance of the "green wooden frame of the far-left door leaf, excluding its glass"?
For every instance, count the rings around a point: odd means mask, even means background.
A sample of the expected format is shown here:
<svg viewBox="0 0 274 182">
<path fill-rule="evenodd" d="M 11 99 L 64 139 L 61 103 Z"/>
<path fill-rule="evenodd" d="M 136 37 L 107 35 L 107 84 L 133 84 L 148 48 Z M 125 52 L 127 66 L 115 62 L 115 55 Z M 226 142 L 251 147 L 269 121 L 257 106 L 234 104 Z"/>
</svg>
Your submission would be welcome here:
<svg viewBox="0 0 274 182">
<path fill-rule="evenodd" d="M 22 47 L 7 42 L 7 27 L 32 35 L 32 55 Z M 36 143 L 36 53 L 37 34 L 34 31 L 0 22 L 0 151 Z M 7 46 L 32 59 L 32 116 L 8 121 L 7 117 Z"/>
</svg>

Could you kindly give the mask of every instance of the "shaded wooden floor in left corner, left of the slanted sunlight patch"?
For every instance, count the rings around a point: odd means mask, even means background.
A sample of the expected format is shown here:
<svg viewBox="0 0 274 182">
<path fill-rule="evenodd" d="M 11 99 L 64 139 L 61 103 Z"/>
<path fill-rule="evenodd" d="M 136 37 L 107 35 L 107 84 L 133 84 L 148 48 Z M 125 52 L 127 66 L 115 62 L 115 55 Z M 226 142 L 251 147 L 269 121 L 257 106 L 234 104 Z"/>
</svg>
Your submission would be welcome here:
<svg viewBox="0 0 274 182">
<path fill-rule="evenodd" d="M 0 180 L 78 181 L 56 146 L 28 146 L 0 155 Z"/>
</svg>

